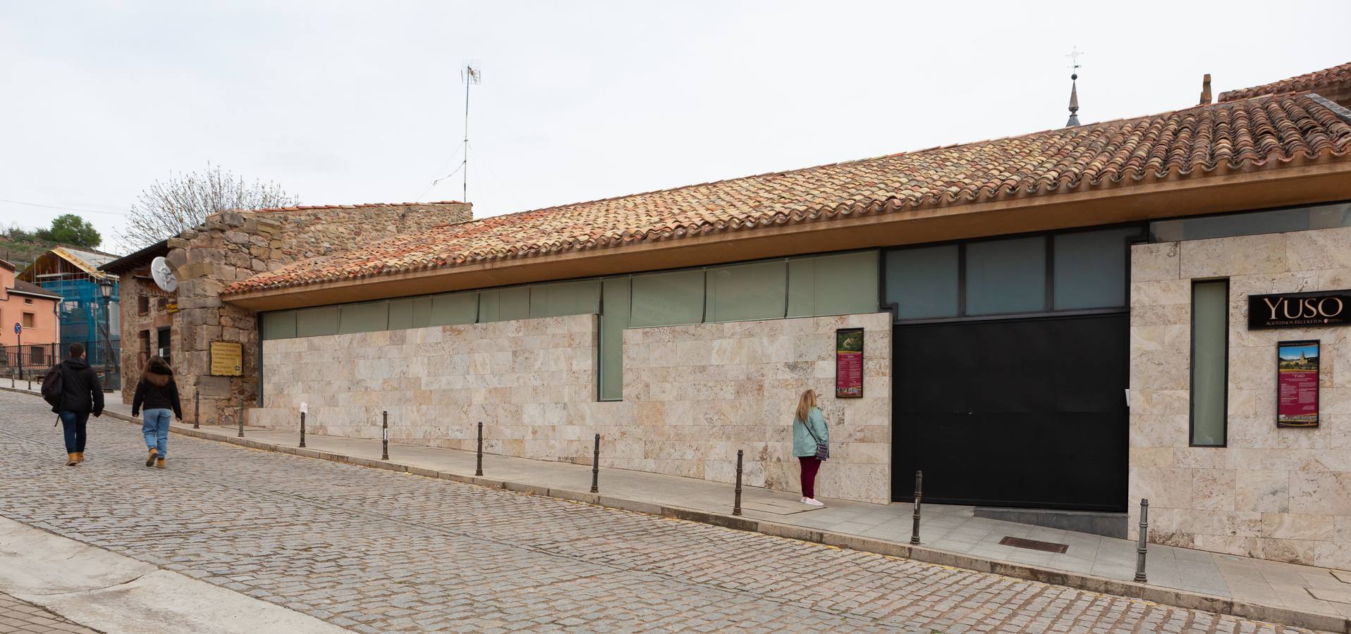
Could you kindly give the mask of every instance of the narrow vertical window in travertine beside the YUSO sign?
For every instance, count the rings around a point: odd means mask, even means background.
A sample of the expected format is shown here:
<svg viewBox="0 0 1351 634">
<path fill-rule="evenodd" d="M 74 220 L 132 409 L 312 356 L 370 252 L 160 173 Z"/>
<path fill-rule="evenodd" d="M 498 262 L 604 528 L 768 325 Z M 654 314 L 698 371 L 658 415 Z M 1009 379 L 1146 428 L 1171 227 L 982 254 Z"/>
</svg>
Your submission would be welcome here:
<svg viewBox="0 0 1351 634">
<path fill-rule="evenodd" d="M 1192 446 L 1224 446 L 1229 281 L 1192 283 Z"/>
</svg>

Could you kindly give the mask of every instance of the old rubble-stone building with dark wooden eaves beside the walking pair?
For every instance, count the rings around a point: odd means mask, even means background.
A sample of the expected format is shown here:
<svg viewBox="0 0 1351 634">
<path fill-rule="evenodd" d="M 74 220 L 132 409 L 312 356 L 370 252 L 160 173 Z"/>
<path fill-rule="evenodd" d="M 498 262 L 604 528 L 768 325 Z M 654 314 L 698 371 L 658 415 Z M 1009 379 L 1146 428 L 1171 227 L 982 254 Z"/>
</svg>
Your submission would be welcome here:
<svg viewBox="0 0 1351 634">
<path fill-rule="evenodd" d="M 454 201 L 222 212 L 101 266 L 120 279 L 123 401 L 131 402 L 146 360 L 159 355 L 176 368 L 185 403 L 200 394 L 203 420 L 234 424 L 239 403 L 253 405 L 258 398 L 258 317 L 222 302 L 223 287 L 353 244 L 470 217 L 470 206 Z M 150 277 L 150 263 L 159 256 L 177 277 L 173 291 Z M 222 341 L 242 347 L 238 376 L 211 372 L 212 343 Z"/>
</svg>

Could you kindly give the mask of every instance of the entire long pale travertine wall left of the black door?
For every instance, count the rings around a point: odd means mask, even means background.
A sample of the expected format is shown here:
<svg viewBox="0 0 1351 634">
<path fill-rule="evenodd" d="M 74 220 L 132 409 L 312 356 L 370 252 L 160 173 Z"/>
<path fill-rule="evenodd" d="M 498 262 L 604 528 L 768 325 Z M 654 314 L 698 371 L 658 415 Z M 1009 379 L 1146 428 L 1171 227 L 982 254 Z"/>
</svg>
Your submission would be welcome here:
<svg viewBox="0 0 1351 634">
<path fill-rule="evenodd" d="M 834 398 L 836 328 L 866 328 L 865 398 Z M 821 394 L 832 459 L 819 494 L 890 500 L 889 314 L 624 332 L 624 401 L 597 402 L 596 316 L 263 341 L 265 407 L 250 425 L 601 464 L 798 491 L 792 410 Z"/>
</svg>

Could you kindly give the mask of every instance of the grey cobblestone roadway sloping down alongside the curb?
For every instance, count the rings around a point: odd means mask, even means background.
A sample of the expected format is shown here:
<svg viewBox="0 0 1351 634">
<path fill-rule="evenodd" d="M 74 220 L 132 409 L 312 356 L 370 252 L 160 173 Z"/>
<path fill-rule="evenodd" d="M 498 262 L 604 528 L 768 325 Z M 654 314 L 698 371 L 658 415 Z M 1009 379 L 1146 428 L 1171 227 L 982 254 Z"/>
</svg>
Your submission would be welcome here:
<svg viewBox="0 0 1351 634">
<path fill-rule="evenodd" d="M 355 631 L 1302 631 L 182 436 L 149 469 L 108 417 L 68 468 L 46 410 L 0 393 L 0 515 Z"/>
</svg>

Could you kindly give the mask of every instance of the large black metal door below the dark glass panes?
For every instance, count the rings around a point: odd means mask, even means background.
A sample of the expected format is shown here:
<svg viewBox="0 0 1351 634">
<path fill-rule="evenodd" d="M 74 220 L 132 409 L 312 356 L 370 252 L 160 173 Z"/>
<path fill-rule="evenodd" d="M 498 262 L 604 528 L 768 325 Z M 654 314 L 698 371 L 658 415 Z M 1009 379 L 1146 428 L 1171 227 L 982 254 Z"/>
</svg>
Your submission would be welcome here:
<svg viewBox="0 0 1351 634">
<path fill-rule="evenodd" d="M 893 498 L 1125 510 L 1127 316 L 897 326 Z"/>
</svg>

